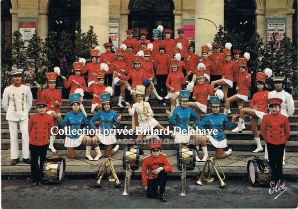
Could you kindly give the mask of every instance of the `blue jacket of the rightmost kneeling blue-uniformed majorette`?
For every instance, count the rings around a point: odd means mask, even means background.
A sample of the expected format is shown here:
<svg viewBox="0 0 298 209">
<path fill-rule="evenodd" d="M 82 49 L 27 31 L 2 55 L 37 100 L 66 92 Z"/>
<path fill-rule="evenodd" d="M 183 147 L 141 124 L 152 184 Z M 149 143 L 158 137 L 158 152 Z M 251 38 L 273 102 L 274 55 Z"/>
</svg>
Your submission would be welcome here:
<svg viewBox="0 0 298 209">
<path fill-rule="evenodd" d="M 211 136 L 219 142 L 226 139 L 225 130 L 232 130 L 236 127 L 236 124 L 230 122 L 228 117 L 222 113 L 207 114 L 206 117 L 198 123 L 198 128 L 204 130 L 208 123 L 210 124 L 210 129 L 218 130 L 217 135 L 211 134 Z"/>
</svg>

